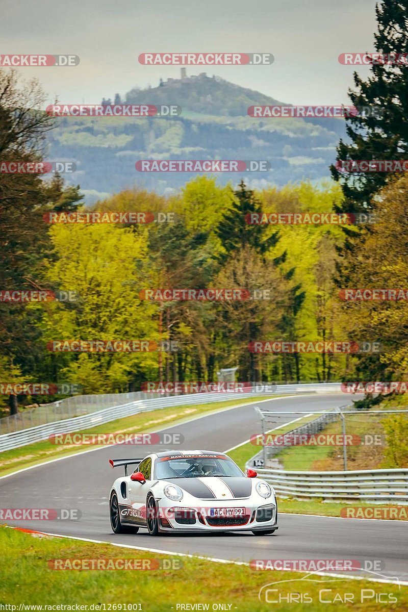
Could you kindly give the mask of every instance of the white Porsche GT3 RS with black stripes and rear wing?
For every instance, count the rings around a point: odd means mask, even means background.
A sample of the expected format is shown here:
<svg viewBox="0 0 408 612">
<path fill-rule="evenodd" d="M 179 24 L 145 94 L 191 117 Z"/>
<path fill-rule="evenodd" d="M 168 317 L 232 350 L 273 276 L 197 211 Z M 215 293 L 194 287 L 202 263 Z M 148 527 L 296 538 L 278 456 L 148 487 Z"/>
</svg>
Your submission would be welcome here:
<svg viewBox="0 0 408 612">
<path fill-rule="evenodd" d="M 247 475 L 224 453 L 210 450 L 169 450 L 143 459 L 109 459 L 125 467 L 109 494 L 114 533 L 252 531 L 278 529 L 273 488 Z M 127 466 L 136 469 L 128 476 Z"/>
</svg>

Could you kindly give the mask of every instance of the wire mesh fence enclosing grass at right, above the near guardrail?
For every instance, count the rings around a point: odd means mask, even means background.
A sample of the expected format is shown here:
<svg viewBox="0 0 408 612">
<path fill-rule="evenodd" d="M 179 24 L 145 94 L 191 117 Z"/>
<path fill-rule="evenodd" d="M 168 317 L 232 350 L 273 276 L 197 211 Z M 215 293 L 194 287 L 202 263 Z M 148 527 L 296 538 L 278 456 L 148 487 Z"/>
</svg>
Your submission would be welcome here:
<svg viewBox="0 0 408 612">
<path fill-rule="evenodd" d="M 408 467 L 408 411 L 403 406 L 256 411 L 261 417 L 260 450 L 253 458 L 258 467 L 312 472 Z M 298 418 L 285 425 L 288 416 Z"/>
</svg>

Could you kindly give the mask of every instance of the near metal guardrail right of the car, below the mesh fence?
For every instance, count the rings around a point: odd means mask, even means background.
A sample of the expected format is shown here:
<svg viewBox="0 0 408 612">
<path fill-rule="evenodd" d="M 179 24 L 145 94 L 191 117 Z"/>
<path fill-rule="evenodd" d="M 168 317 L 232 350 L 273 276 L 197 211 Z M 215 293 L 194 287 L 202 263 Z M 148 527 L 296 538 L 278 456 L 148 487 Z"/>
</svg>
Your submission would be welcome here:
<svg viewBox="0 0 408 612">
<path fill-rule="evenodd" d="M 248 461 L 253 468 L 253 460 Z M 280 496 L 332 501 L 408 503 L 408 469 L 362 469 L 347 472 L 287 472 L 256 468 Z"/>
</svg>

